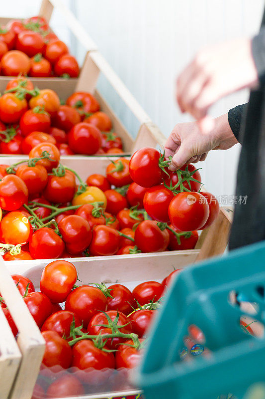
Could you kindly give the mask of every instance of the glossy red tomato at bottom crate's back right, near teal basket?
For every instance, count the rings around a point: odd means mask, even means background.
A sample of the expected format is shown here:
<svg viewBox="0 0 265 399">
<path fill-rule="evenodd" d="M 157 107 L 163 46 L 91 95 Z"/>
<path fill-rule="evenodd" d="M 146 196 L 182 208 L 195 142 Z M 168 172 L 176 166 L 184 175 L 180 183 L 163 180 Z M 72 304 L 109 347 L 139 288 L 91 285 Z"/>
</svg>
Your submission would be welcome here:
<svg viewBox="0 0 265 399">
<path fill-rule="evenodd" d="M 163 289 L 163 285 L 157 281 L 146 281 L 137 285 L 132 294 L 136 301 L 143 306 L 152 301 L 157 302 L 163 293 Z"/>
</svg>

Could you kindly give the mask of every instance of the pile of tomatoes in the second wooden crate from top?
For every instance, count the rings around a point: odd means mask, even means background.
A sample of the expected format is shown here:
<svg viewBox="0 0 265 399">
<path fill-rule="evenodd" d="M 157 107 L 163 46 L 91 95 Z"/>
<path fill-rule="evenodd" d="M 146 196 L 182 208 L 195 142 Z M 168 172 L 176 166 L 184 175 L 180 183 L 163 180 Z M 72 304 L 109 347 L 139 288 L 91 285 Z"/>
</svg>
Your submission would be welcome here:
<svg viewBox="0 0 265 399">
<path fill-rule="evenodd" d="M 111 119 L 87 92 L 75 92 L 61 105 L 54 90 L 34 88 L 20 76 L 0 97 L 2 154 L 29 154 L 44 142 L 61 155 L 122 154 L 121 138 L 111 128 Z"/>
</svg>

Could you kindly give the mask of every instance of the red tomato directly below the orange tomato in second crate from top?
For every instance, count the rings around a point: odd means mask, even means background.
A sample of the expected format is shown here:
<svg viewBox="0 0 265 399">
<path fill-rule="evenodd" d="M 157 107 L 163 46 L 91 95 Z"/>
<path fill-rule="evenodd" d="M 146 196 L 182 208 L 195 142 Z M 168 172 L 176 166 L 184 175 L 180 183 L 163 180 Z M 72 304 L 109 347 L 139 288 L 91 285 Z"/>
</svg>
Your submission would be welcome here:
<svg viewBox="0 0 265 399">
<path fill-rule="evenodd" d="M 47 112 L 40 107 L 29 109 L 26 111 L 19 122 L 19 127 L 23 136 L 27 136 L 31 132 L 49 133 L 51 126 L 51 118 Z"/>
</svg>

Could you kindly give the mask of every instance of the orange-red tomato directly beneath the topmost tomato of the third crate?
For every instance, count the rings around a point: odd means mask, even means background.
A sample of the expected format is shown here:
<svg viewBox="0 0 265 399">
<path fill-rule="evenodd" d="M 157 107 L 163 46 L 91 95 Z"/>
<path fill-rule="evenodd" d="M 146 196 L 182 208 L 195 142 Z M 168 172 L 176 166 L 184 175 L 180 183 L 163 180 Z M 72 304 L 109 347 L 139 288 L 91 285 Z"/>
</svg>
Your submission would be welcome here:
<svg viewBox="0 0 265 399">
<path fill-rule="evenodd" d="M 29 195 L 41 193 L 48 181 L 47 171 L 41 165 L 19 165 L 15 174 L 23 180 Z"/>
</svg>

